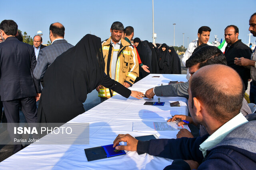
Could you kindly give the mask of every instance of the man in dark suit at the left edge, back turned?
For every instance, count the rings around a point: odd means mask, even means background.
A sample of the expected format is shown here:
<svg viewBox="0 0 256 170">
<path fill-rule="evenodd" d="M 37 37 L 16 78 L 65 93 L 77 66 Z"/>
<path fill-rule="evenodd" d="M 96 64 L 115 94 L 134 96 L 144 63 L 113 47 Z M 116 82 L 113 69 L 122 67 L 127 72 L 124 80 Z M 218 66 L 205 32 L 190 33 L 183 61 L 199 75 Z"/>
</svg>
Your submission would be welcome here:
<svg viewBox="0 0 256 170">
<path fill-rule="evenodd" d="M 19 41 L 18 25 L 13 20 L 3 20 L 0 23 L 1 36 L 4 42 L 0 43 L 0 96 L 8 123 L 11 139 L 13 132 L 10 123 L 19 123 L 19 107 L 28 123 L 37 122 L 36 98 L 40 92 L 39 82 L 32 78 L 36 66 L 36 56 L 31 45 Z M 36 84 L 36 87 L 35 87 Z M 21 150 L 22 145 L 16 145 L 14 153 Z"/>
</svg>

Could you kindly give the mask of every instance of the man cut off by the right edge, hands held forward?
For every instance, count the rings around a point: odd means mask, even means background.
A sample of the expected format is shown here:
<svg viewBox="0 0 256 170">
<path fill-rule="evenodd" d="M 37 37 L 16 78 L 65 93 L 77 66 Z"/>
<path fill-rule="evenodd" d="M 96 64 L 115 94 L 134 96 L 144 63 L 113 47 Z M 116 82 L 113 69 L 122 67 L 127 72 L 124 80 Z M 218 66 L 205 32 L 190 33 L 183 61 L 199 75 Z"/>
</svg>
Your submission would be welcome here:
<svg viewBox="0 0 256 170">
<path fill-rule="evenodd" d="M 249 20 L 249 31 L 256 37 L 256 13 L 252 14 Z M 238 66 L 247 66 L 251 69 L 252 82 L 250 83 L 250 102 L 256 104 L 256 52 L 253 51 L 252 57 L 246 59 L 244 56 L 235 57 L 234 63 Z"/>
</svg>

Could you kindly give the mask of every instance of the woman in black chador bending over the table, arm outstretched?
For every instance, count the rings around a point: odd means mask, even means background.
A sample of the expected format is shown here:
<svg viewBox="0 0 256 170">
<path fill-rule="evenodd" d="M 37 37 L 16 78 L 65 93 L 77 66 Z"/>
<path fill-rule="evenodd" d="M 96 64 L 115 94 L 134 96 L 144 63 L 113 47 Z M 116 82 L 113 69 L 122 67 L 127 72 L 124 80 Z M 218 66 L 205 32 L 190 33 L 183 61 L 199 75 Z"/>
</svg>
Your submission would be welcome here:
<svg viewBox="0 0 256 170">
<path fill-rule="evenodd" d="M 75 47 L 58 56 L 46 70 L 38 105 L 38 122 L 66 123 L 84 113 L 87 94 L 102 84 L 122 96 L 141 98 L 104 73 L 101 40 L 85 35 Z"/>
</svg>

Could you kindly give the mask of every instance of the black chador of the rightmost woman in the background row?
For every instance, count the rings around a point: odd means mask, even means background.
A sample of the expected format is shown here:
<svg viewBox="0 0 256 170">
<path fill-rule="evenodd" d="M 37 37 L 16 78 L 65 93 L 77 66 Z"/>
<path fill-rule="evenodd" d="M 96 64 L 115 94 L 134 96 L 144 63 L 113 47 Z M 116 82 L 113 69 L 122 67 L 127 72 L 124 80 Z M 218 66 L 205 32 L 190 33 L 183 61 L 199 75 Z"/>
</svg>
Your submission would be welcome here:
<svg viewBox="0 0 256 170">
<path fill-rule="evenodd" d="M 181 74 L 180 57 L 176 53 L 174 47 L 169 47 L 169 49 L 171 50 L 170 55 L 172 60 L 172 65 L 170 65 L 171 72 L 172 74 Z"/>
</svg>

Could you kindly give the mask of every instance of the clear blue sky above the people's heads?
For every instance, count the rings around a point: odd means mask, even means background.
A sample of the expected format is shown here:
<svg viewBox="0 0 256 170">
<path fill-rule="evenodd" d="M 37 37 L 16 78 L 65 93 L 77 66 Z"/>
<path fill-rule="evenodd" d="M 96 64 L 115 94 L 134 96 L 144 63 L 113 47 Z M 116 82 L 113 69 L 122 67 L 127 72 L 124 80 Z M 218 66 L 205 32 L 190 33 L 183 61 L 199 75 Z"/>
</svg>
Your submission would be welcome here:
<svg viewBox="0 0 256 170">
<path fill-rule="evenodd" d="M 185 33 L 187 47 L 202 25 L 212 29 L 209 42 L 214 35 L 224 39 L 225 27 L 234 24 L 239 28 L 238 38 L 248 43 L 249 18 L 255 8 L 256 0 L 154 0 L 156 43 L 173 45 L 173 23 L 175 46 L 183 44 Z M 1 21 L 16 21 L 18 28 L 32 37 L 42 31 L 44 44 L 50 40 L 49 27 L 54 22 L 64 25 L 64 38 L 72 45 L 88 33 L 107 39 L 114 21 L 133 26 L 134 38 L 152 42 L 152 0 L 9 0 L 1 3 L 1 9 Z"/>
</svg>

